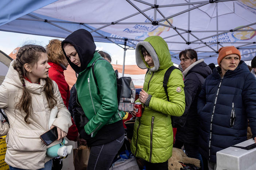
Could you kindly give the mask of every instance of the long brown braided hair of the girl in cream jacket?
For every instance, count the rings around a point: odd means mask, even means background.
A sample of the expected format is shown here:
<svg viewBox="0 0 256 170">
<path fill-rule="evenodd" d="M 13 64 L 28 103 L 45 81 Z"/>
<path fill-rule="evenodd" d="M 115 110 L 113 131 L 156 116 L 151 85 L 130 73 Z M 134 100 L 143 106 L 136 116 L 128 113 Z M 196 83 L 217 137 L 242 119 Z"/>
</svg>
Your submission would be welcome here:
<svg viewBox="0 0 256 170">
<path fill-rule="evenodd" d="M 23 110 L 24 113 L 26 113 L 24 121 L 27 124 L 30 124 L 30 122 L 28 122 L 28 118 L 33 113 L 33 108 L 32 97 L 30 94 L 31 91 L 27 89 L 25 85 L 24 78 L 27 77 L 28 72 L 24 68 L 24 64 L 27 63 L 34 66 L 42 53 L 46 53 L 46 50 L 42 46 L 31 44 L 24 45 L 19 49 L 13 64 L 13 68 L 18 72 L 20 81 L 23 85 L 22 97 L 16 104 L 15 109 Z M 54 96 L 53 81 L 49 77 L 45 78 L 45 80 L 46 84 L 44 85 L 44 93 L 46 95 L 48 105 L 52 109 L 55 105 L 57 105 L 57 97 Z"/>
</svg>

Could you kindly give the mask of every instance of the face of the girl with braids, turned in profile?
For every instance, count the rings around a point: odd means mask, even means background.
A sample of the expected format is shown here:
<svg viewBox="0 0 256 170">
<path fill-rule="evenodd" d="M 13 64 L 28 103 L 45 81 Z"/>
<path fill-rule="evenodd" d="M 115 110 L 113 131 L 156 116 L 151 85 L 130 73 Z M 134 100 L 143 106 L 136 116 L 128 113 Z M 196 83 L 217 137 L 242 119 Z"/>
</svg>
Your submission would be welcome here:
<svg viewBox="0 0 256 170">
<path fill-rule="evenodd" d="M 29 78 L 32 83 L 39 82 L 39 78 L 47 78 L 49 73 L 48 57 L 46 53 L 41 53 L 37 63 L 32 66 L 31 72 L 29 73 Z"/>
</svg>

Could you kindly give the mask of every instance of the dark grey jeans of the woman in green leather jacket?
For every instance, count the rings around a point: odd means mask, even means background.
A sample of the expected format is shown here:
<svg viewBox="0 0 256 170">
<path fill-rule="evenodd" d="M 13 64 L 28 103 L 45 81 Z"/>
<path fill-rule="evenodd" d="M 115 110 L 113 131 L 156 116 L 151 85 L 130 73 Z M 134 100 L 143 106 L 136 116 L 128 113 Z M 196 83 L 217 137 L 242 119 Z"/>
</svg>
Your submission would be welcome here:
<svg viewBox="0 0 256 170">
<path fill-rule="evenodd" d="M 109 170 L 117 152 L 124 143 L 124 135 L 103 145 L 92 146 L 87 170 Z"/>
</svg>

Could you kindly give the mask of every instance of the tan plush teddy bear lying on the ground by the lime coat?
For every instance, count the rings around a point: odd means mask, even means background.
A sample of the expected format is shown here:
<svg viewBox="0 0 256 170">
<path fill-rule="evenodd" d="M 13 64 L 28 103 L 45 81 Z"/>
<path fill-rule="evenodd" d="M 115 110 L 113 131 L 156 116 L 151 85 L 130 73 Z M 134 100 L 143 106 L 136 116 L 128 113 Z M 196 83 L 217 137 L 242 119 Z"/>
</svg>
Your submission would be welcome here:
<svg viewBox="0 0 256 170">
<path fill-rule="evenodd" d="M 200 167 L 200 160 L 195 158 L 189 158 L 183 152 L 183 150 L 178 148 L 172 148 L 172 157 L 168 160 L 168 170 L 183 170 L 183 163 L 189 163 Z"/>
</svg>

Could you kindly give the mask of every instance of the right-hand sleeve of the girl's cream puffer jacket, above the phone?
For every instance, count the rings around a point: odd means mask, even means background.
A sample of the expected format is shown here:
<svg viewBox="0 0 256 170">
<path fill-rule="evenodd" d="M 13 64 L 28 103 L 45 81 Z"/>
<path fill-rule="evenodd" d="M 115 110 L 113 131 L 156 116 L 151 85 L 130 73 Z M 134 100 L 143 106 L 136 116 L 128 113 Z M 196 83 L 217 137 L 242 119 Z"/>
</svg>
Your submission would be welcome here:
<svg viewBox="0 0 256 170">
<path fill-rule="evenodd" d="M 59 92 L 58 86 L 55 81 L 54 84 L 54 96 L 57 97 L 57 107 L 58 107 L 58 114 L 57 118 L 54 120 L 53 125 L 57 126 L 61 130 L 65 131 L 66 133 L 69 130 L 69 127 L 72 125 L 71 116 L 69 110 L 67 110 L 66 106 L 63 103 L 61 98 L 61 93 Z"/>
</svg>

